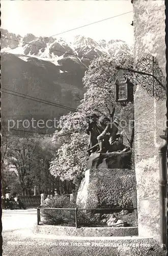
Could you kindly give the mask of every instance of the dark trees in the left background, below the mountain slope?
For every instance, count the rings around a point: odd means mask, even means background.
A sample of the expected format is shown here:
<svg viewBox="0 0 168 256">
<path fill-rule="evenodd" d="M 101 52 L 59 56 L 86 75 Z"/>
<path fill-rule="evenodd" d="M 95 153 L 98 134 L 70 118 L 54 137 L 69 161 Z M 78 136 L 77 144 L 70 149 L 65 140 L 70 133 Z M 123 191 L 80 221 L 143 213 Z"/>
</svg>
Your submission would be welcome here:
<svg viewBox="0 0 168 256">
<path fill-rule="evenodd" d="M 5 125 L 2 137 L 3 195 L 7 191 L 30 195 L 35 185 L 37 193 L 46 194 L 55 188 L 60 193 L 68 193 L 73 188 L 73 184 L 55 179 L 49 172 L 49 162 L 57 148 L 51 137 L 35 135 L 23 138 L 10 133 Z"/>
</svg>

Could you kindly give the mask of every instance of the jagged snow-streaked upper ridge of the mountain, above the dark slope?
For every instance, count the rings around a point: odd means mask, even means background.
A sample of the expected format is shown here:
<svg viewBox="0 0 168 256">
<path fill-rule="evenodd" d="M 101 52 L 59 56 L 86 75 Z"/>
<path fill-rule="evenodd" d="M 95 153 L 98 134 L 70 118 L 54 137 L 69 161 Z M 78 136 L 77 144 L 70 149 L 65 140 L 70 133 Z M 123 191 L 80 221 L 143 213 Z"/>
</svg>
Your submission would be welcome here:
<svg viewBox="0 0 168 256">
<path fill-rule="evenodd" d="M 12 48 L 14 49 L 12 50 Z M 88 66 L 92 59 L 102 54 L 116 55 L 120 51 L 129 54 L 131 51 L 126 42 L 122 40 L 106 42 L 102 39 L 97 42 L 92 38 L 76 35 L 74 40 L 69 43 L 61 37 L 36 37 L 33 34 L 26 34 L 21 37 L 4 29 L 2 29 L 1 49 L 2 52 L 11 49 L 8 52 L 51 61 L 56 66 L 62 63 L 62 61 L 59 63 L 59 60 L 71 56 Z M 26 61 L 25 58 L 24 60 Z"/>
</svg>

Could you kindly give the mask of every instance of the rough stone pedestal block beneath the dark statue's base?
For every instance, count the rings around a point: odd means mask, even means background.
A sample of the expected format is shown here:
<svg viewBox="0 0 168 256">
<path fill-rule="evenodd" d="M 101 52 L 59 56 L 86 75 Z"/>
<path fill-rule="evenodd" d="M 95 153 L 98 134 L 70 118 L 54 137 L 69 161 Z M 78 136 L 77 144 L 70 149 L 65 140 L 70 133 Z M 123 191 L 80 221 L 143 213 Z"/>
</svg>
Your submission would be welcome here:
<svg viewBox="0 0 168 256">
<path fill-rule="evenodd" d="M 129 169 L 88 169 L 76 204 L 83 208 L 135 207 L 135 174 Z"/>
</svg>

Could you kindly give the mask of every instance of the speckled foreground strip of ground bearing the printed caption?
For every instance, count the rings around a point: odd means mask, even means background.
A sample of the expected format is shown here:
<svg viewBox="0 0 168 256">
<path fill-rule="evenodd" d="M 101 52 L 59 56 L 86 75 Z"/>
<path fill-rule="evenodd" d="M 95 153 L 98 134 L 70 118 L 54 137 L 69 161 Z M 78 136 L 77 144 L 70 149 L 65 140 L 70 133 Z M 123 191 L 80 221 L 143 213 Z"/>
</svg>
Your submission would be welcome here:
<svg viewBox="0 0 168 256">
<path fill-rule="evenodd" d="M 151 239 L 77 238 L 31 234 L 30 230 L 7 231 L 3 256 L 165 256 Z"/>
</svg>

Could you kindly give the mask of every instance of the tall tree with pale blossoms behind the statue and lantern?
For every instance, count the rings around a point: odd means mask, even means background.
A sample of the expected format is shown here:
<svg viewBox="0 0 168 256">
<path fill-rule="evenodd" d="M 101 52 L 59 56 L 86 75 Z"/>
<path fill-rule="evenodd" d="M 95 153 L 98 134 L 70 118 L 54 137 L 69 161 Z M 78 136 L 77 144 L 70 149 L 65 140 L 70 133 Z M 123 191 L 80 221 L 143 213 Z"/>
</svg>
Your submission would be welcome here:
<svg viewBox="0 0 168 256">
<path fill-rule="evenodd" d="M 85 116 L 97 113 L 104 116 L 116 115 L 119 121 L 133 119 L 133 105 L 118 106 L 115 101 L 115 81 L 117 66 L 131 65 L 132 56 L 101 56 L 91 62 L 83 77 L 86 93 L 81 99 L 76 112 L 62 116 L 59 129 L 53 135 L 53 143 L 61 146 L 50 163 L 50 172 L 62 180 L 80 181 L 87 168 L 88 135 L 85 134 Z M 127 125 L 128 126 L 128 125 Z M 126 140 L 129 141 L 129 129 L 122 126 Z M 128 140 L 127 140 L 128 139 Z"/>
</svg>

